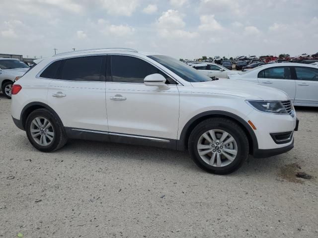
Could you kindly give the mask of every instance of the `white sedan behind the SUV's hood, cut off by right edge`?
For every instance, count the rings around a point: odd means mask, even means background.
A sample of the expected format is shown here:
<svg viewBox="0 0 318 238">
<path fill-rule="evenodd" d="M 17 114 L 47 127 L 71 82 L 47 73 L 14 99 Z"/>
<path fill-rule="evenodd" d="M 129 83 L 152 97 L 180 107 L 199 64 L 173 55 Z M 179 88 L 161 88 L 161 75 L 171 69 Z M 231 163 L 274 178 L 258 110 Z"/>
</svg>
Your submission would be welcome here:
<svg viewBox="0 0 318 238">
<path fill-rule="evenodd" d="M 271 63 L 231 79 L 260 83 L 288 94 L 295 106 L 318 107 L 318 68 L 304 63 Z"/>
</svg>

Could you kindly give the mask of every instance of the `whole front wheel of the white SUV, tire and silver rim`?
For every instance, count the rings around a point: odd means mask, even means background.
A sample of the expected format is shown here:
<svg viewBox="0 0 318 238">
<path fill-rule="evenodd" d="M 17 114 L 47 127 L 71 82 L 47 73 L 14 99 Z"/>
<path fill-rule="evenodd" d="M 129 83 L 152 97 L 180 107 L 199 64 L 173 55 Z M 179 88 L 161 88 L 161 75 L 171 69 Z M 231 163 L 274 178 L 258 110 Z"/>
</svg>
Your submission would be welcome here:
<svg viewBox="0 0 318 238">
<path fill-rule="evenodd" d="M 225 118 L 206 119 L 191 132 L 190 155 L 203 170 L 214 174 L 230 174 L 248 156 L 248 139 L 235 121 Z"/>
</svg>

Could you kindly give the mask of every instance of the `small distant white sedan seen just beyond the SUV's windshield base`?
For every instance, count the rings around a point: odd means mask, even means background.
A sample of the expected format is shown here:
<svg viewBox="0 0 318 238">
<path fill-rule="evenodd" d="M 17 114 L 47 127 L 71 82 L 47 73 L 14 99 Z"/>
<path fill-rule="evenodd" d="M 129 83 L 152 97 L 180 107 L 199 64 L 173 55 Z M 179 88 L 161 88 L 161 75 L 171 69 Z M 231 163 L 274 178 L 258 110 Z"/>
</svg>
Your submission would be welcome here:
<svg viewBox="0 0 318 238">
<path fill-rule="evenodd" d="M 198 63 L 191 65 L 205 75 L 217 78 L 229 78 L 229 75 L 238 74 L 239 71 L 232 71 L 216 63 Z"/>
</svg>

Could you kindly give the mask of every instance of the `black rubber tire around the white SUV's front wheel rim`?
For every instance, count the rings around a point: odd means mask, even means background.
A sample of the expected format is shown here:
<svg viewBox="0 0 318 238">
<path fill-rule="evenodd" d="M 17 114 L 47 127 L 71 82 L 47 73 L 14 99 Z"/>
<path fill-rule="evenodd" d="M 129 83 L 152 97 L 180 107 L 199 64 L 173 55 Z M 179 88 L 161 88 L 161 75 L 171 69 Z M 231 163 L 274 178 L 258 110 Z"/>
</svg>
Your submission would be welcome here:
<svg viewBox="0 0 318 238">
<path fill-rule="evenodd" d="M 229 165 L 225 165 L 224 167 L 216 167 L 207 164 L 198 152 L 197 145 L 201 135 L 212 129 L 223 130 L 230 133 L 237 143 L 237 155 L 235 159 Z M 200 122 L 190 134 L 188 149 L 191 158 L 197 166 L 209 173 L 218 175 L 230 174 L 238 170 L 249 154 L 249 144 L 245 132 L 238 123 L 225 118 L 212 118 Z"/>
</svg>

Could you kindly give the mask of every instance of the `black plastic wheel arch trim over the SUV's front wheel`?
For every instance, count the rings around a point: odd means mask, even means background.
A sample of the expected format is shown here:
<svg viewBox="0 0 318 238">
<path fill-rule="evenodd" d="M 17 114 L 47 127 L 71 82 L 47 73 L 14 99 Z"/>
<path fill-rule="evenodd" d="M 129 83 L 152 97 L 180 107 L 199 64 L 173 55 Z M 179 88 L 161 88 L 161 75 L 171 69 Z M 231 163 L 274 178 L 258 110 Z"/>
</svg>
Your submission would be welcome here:
<svg viewBox="0 0 318 238">
<path fill-rule="evenodd" d="M 191 131 L 194 129 L 194 127 L 198 123 L 200 123 L 201 121 L 205 119 L 210 119 L 210 118 L 226 118 L 226 119 L 231 119 L 237 122 L 247 135 L 248 144 L 249 144 L 249 154 L 253 155 L 254 151 L 258 149 L 258 142 L 257 142 L 256 135 L 254 131 L 252 130 L 251 126 L 244 119 L 240 118 L 239 116 L 233 113 L 229 113 L 225 111 L 208 111 L 208 112 L 203 112 L 194 116 L 185 124 L 185 126 L 183 127 L 180 133 L 180 139 L 177 141 L 177 150 L 187 149 L 188 139 L 189 139 Z"/>
</svg>

